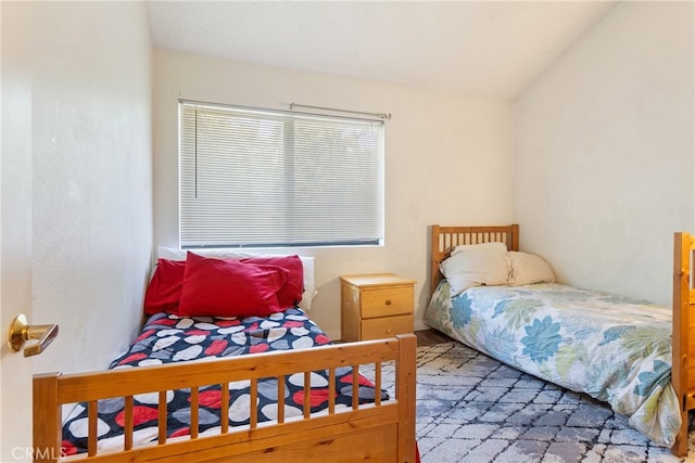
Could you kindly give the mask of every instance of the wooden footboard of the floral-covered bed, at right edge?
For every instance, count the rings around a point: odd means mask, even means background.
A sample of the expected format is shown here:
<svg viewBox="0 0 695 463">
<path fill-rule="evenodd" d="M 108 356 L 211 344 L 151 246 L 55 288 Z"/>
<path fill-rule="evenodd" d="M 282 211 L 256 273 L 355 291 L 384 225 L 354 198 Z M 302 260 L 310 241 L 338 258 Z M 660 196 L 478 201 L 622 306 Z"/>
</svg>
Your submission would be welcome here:
<svg viewBox="0 0 695 463">
<path fill-rule="evenodd" d="M 681 406 L 681 430 L 671 449 L 678 456 L 687 453 L 687 414 L 695 408 L 695 290 L 693 288 L 693 253 L 695 240 L 690 233 L 675 233 L 673 239 L 673 362 L 671 378 Z"/>
</svg>

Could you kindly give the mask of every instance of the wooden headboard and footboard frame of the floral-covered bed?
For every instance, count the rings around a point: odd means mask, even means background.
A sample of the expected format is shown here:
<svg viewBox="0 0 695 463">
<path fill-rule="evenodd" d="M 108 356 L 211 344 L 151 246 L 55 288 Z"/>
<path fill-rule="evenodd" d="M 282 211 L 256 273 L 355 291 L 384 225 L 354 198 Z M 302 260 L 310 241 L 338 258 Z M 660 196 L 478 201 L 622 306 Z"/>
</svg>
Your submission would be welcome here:
<svg viewBox="0 0 695 463">
<path fill-rule="evenodd" d="M 519 226 L 440 227 L 432 226 L 431 291 L 434 293 L 443 275 L 439 265 L 462 244 L 506 243 L 519 250 Z M 673 345 L 671 382 L 682 413 L 681 429 L 671 447 L 677 456 L 687 454 L 688 411 L 695 409 L 695 286 L 691 272 L 695 262 L 695 236 L 675 233 L 673 237 Z M 694 339 L 694 343 L 690 343 Z"/>
</svg>

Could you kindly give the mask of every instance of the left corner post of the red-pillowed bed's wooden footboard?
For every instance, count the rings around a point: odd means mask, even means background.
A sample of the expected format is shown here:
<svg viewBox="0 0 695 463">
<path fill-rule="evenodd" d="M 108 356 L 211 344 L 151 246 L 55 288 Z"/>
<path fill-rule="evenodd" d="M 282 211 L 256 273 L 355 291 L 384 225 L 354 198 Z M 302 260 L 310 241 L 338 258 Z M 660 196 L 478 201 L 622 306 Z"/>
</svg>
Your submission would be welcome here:
<svg viewBox="0 0 695 463">
<path fill-rule="evenodd" d="M 62 456 L 59 373 L 34 375 L 34 461 L 58 462 Z"/>
</svg>

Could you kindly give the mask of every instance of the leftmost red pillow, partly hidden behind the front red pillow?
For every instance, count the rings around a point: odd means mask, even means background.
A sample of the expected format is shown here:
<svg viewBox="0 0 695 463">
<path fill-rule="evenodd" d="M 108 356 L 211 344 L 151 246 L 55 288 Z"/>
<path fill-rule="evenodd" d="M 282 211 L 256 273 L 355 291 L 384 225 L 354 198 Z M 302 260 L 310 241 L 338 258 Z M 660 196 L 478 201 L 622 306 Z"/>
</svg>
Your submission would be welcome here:
<svg viewBox="0 0 695 463">
<path fill-rule="evenodd" d="M 178 313 L 186 260 L 159 259 L 154 275 L 144 293 L 144 313 Z"/>
</svg>

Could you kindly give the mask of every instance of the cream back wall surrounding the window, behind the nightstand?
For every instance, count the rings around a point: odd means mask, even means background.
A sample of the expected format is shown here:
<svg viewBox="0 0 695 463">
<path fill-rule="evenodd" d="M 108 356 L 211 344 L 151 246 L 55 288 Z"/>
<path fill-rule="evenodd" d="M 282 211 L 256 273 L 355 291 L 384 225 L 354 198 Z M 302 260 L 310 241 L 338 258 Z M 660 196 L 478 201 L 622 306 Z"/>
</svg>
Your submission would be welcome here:
<svg viewBox="0 0 695 463">
<path fill-rule="evenodd" d="M 392 113 L 386 124 L 386 245 L 293 249 L 315 256 L 312 318 L 340 336 L 339 275 L 395 272 L 417 280 L 416 325 L 429 298 L 429 228 L 511 219 L 511 103 L 167 50 L 154 51 L 154 241 L 178 246 L 177 102 Z M 281 104 L 285 103 L 285 104 Z"/>
</svg>

